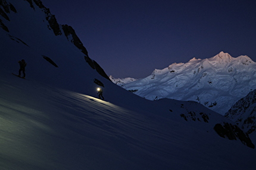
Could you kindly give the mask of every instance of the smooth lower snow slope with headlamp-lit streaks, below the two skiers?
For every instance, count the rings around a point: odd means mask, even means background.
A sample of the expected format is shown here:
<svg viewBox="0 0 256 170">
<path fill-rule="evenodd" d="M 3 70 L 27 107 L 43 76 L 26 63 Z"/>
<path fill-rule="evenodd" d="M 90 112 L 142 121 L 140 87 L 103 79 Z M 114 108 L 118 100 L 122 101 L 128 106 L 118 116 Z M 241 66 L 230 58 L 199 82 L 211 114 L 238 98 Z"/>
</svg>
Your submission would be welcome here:
<svg viewBox="0 0 256 170">
<path fill-rule="evenodd" d="M 256 166 L 255 149 L 213 130 L 226 118 L 195 103 L 148 101 L 125 91 L 123 100 L 102 101 L 10 73 L 1 73 L 0 93 L 1 169 Z M 207 113 L 209 123 L 185 121 L 180 114 L 188 110 Z"/>
</svg>

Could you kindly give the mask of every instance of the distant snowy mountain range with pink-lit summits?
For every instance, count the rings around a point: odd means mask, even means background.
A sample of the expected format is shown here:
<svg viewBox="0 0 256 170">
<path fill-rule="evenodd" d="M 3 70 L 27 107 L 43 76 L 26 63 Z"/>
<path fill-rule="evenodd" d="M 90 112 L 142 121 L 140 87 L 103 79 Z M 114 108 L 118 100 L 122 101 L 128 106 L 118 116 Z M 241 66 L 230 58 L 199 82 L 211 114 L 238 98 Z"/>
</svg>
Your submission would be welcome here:
<svg viewBox="0 0 256 170">
<path fill-rule="evenodd" d="M 240 98 L 256 89 L 256 63 L 248 56 L 220 52 L 210 59 L 173 63 L 151 76 L 123 85 L 149 100 L 197 101 L 224 115 Z"/>
</svg>

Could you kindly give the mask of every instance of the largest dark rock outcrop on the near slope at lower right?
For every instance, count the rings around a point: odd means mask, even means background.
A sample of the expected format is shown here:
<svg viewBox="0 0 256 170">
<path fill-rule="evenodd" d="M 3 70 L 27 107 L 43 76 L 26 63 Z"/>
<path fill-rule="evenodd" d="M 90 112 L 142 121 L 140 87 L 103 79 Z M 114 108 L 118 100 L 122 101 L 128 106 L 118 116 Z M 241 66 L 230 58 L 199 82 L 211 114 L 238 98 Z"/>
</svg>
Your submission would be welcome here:
<svg viewBox="0 0 256 170">
<path fill-rule="evenodd" d="M 238 126 L 226 123 L 223 124 L 216 124 L 214 126 L 214 130 L 217 134 L 221 137 L 228 138 L 229 140 L 236 140 L 238 138 L 241 140 L 243 145 L 246 145 L 251 148 L 255 148 L 254 144 L 252 143 L 251 139 L 249 139 L 248 134 L 245 134 Z"/>
</svg>

